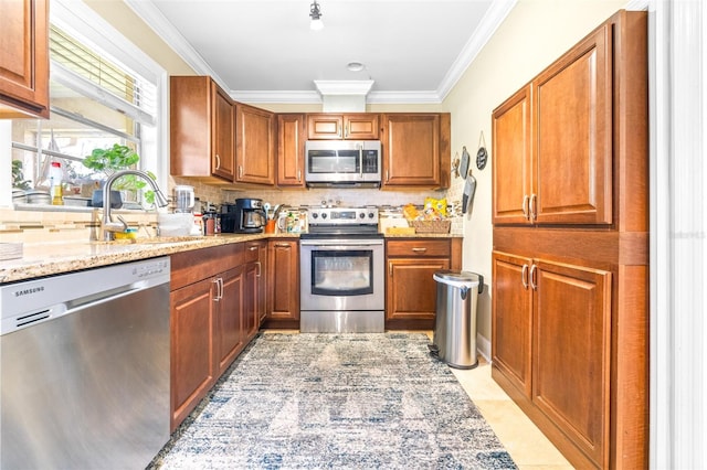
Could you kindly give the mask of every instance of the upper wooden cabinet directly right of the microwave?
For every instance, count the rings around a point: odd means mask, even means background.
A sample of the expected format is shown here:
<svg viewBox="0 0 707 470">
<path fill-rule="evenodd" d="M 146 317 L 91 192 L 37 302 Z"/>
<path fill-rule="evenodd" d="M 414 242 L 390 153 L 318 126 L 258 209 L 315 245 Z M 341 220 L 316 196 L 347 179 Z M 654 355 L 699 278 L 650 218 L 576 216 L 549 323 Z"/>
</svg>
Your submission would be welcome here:
<svg viewBox="0 0 707 470">
<path fill-rule="evenodd" d="M 450 114 L 382 115 L 382 188 L 449 188 Z"/>
</svg>

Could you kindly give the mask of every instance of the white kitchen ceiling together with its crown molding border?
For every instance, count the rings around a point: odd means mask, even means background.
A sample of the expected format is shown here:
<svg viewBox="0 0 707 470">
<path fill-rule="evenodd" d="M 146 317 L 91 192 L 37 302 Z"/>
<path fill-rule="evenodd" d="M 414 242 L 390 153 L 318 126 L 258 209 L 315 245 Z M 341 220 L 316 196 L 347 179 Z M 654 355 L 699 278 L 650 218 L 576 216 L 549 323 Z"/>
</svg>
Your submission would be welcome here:
<svg viewBox="0 0 707 470">
<path fill-rule="evenodd" d="M 314 81 L 373 81 L 368 103 L 440 103 L 516 0 L 126 0 L 234 99 L 319 103 Z M 360 72 L 347 70 L 361 62 Z"/>
</svg>

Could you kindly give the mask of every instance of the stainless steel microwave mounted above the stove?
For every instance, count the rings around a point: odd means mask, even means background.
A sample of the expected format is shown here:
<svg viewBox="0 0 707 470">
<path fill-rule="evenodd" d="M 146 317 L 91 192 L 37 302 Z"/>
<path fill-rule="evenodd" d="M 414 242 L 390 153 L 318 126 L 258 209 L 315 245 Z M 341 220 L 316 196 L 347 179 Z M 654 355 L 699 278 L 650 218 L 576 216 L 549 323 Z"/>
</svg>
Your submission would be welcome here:
<svg viewBox="0 0 707 470">
<path fill-rule="evenodd" d="M 310 188 L 380 188 L 379 140 L 307 140 L 305 153 Z"/>
</svg>

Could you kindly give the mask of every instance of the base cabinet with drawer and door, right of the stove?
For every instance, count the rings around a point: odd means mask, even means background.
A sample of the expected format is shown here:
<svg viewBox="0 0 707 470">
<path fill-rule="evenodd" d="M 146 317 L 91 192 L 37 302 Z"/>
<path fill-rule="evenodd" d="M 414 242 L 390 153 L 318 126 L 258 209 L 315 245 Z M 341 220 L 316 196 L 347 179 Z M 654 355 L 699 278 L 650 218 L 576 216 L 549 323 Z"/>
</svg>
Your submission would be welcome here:
<svg viewBox="0 0 707 470">
<path fill-rule="evenodd" d="M 433 329 L 441 269 L 460 269 L 462 238 L 386 242 L 386 328 Z"/>
</svg>

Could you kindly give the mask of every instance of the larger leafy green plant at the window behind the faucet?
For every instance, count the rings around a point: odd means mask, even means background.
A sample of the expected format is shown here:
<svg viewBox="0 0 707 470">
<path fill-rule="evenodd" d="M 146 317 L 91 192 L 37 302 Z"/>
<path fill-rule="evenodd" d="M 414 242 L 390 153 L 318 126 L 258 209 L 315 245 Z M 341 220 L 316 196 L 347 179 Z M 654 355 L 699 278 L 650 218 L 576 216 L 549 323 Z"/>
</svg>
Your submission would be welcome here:
<svg viewBox="0 0 707 470">
<path fill-rule="evenodd" d="M 138 161 L 140 161 L 140 156 L 135 150 L 127 146 L 114 143 L 108 149 L 93 149 L 91 154 L 84 158 L 83 164 L 96 173 L 103 173 L 106 178 L 109 178 L 117 171 L 133 168 Z M 152 180 L 156 179 L 152 172 L 148 171 L 147 173 Z M 137 193 L 146 185 L 147 183 L 135 174 L 126 174 L 114 182 L 113 189 Z M 155 203 L 155 192 L 152 190 L 145 191 L 145 201 L 149 204 Z"/>
</svg>

